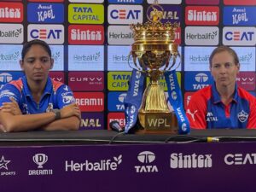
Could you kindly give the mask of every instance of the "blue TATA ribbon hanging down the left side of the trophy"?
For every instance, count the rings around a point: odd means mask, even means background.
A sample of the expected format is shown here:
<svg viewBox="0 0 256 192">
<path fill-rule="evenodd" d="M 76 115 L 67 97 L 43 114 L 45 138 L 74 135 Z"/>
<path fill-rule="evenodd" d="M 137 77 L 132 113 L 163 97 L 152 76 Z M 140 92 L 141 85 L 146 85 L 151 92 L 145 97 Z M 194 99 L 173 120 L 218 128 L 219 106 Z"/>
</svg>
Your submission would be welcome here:
<svg viewBox="0 0 256 192">
<path fill-rule="evenodd" d="M 137 122 L 137 113 L 143 99 L 143 85 L 146 74 L 132 70 L 129 89 L 125 96 L 125 133 Z"/>
</svg>

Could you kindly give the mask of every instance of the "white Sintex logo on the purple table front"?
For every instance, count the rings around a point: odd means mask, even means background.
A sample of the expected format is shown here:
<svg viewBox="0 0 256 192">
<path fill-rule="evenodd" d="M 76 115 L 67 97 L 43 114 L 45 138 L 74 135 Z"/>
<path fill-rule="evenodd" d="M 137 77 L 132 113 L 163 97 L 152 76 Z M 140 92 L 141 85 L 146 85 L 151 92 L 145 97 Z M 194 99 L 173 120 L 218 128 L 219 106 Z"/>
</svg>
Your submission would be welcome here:
<svg viewBox="0 0 256 192">
<path fill-rule="evenodd" d="M 171 154 L 170 166 L 172 169 L 210 168 L 212 154 Z"/>
</svg>

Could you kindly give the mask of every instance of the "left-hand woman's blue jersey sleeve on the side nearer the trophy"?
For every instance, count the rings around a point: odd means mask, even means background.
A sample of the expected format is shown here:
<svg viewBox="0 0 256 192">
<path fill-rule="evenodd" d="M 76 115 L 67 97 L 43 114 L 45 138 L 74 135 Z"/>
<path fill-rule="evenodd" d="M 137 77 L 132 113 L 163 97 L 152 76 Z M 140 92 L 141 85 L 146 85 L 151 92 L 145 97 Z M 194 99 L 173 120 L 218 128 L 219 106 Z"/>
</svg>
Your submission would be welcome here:
<svg viewBox="0 0 256 192">
<path fill-rule="evenodd" d="M 75 103 L 73 91 L 66 84 L 62 84 L 56 91 L 56 105 L 58 108 L 64 108 L 71 103 Z"/>
</svg>

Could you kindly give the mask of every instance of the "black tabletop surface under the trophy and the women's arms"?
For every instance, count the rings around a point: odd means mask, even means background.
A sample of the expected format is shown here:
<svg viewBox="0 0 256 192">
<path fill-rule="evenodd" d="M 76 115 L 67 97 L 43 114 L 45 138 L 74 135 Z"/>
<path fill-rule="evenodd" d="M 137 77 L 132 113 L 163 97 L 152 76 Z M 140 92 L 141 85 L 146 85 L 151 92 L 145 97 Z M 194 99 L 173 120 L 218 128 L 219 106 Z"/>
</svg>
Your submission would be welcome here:
<svg viewBox="0 0 256 192">
<path fill-rule="evenodd" d="M 188 135 L 124 134 L 108 130 L 27 131 L 0 133 L 0 145 L 80 144 L 80 143 L 193 143 L 256 141 L 256 130 L 191 130 Z"/>
</svg>

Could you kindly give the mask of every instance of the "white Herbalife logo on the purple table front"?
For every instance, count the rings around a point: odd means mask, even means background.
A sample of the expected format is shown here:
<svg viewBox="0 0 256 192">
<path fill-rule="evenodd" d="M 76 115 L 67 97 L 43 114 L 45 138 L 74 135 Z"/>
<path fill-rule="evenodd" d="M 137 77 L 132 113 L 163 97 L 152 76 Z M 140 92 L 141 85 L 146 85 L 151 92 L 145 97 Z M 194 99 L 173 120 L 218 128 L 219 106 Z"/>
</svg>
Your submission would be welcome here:
<svg viewBox="0 0 256 192">
<path fill-rule="evenodd" d="M 122 154 L 118 157 L 113 157 L 113 160 L 99 160 L 96 162 L 90 162 L 84 160 L 84 162 L 74 162 L 74 160 L 65 161 L 66 172 L 103 172 L 103 171 L 115 171 L 119 164 L 122 162 Z"/>
</svg>

